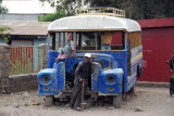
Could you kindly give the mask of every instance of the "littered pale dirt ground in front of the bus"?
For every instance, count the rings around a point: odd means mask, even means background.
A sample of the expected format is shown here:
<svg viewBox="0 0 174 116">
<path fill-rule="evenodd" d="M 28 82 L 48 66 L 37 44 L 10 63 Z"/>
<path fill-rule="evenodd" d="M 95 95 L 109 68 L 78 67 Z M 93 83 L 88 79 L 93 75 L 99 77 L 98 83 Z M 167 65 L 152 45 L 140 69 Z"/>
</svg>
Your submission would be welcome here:
<svg viewBox="0 0 174 116">
<path fill-rule="evenodd" d="M 169 88 L 137 87 L 135 94 L 124 95 L 122 108 L 113 108 L 104 99 L 80 112 L 66 105 L 61 102 L 46 107 L 37 91 L 2 94 L 0 116 L 174 116 L 174 96 L 170 96 Z"/>
</svg>

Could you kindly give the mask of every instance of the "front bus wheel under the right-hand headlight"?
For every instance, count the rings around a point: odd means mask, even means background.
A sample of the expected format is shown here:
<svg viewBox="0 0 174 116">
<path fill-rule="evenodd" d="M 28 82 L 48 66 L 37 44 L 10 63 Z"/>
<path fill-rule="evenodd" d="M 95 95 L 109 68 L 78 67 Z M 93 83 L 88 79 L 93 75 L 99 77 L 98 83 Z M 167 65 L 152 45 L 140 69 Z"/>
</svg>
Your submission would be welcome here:
<svg viewBox="0 0 174 116">
<path fill-rule="evenodd" d="M 122 94 L 113 95 L 113 106 L 114 108 L 122 108 Z"/>
</svg>

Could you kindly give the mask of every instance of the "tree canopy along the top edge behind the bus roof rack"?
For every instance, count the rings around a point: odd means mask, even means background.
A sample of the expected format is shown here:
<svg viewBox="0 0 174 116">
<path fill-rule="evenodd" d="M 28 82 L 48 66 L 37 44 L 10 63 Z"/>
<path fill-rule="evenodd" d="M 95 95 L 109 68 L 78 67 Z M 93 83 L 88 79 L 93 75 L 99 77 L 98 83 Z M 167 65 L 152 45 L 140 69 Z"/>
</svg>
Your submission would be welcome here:
<svg viewBox="0 0 174 116">
<path fill-rule="evenodd" d="M 83 0 L 40 0 L 48 1 L 63 16 L 75 14 L 75 9 L 82 7 Z M 112 7 L 126 12 L 127 18 L 149 20 L 174 17 L 174 0 L 85 0 L 90 7 Z M 61 17 L 58 16 L 58 18 Z"/>
</svg>

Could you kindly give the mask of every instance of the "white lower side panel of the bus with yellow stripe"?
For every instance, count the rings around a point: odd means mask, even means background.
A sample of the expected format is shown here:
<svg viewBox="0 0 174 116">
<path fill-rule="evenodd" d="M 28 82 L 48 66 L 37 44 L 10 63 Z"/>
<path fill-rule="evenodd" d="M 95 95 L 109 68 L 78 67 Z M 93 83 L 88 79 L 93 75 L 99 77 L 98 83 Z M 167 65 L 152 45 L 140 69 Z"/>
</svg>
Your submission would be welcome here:
<svg viewBox="0 0 174 116">
<path fill-rule="evenodd" d="M 128 90 L 135 85 L 137 79 L 137 68 L 142 67 L 142 46 L 130 50 L 130 76 L 128 78 Z"/>
</svg>

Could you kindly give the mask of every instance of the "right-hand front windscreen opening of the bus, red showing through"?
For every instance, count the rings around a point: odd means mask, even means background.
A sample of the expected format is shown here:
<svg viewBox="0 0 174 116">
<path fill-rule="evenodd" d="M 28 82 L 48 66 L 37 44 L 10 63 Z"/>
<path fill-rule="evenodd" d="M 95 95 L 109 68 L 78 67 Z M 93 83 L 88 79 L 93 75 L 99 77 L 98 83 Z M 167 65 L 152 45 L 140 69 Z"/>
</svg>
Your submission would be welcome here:
<svg viewBox="0 0 174 116">
<path fill-rule="evenodd" d="M 124 50 L 124 31 L 77 33 L 76 50 Z"/>
</svg>

